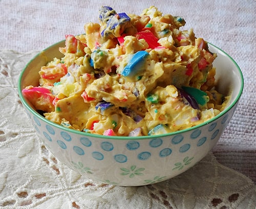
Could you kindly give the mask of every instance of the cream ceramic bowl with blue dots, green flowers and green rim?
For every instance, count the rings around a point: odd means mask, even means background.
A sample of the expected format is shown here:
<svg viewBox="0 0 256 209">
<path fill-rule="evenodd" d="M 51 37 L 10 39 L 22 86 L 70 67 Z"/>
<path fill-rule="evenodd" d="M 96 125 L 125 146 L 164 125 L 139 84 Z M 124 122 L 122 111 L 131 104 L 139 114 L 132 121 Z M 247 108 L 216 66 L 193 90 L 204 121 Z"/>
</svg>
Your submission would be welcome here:
<svg viewBox="0 0 256 209">
<path fill-rule="evenodd" d="M 37 54 L 24 68 L 18 93 L 31 123 L 46 147 L 69 168 L 108 184 L 138 186 L 157 183 L 186 171 L 200 161 L 217 143 L 243 90 L 243 76 L 237 63 L 209 43 L 218 57 L 217 89 L 230 94 L 226 109 L 215 118 L 185 130 L 151 136 L 103 136 L 71 130 L 38 114 L 23 97 L 22 89 L 38 85 L 38 71 L 54 57 L 60 58 L 60 41 Z"/>
</svg>

